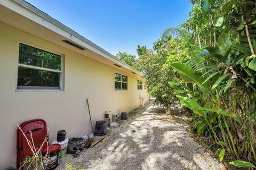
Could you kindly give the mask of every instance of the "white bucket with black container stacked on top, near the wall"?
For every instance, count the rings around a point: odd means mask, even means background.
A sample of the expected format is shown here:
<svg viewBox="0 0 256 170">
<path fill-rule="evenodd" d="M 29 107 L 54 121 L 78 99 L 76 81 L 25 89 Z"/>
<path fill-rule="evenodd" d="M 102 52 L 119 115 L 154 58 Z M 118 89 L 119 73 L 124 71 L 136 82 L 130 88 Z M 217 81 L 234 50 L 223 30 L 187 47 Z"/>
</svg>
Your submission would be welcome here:
<svg viewBox="0 0 256 170">
<path fill-rule="evenodd" d="M 57 132 L 57 140 L 54 140 L 52 143 L 60 144 L 60 158 L 63 158 L 67 154 L 68 148 L 68 138 L 66 138 L 66 131 L 61 130 Z"/>
</svg>

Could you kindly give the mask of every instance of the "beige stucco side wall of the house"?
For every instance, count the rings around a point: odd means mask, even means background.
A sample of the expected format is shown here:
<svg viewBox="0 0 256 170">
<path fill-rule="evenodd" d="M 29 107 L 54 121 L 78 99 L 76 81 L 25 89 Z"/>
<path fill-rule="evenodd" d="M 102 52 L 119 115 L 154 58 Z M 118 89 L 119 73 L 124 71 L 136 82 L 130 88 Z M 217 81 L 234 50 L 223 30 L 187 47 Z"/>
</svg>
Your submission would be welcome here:
<svg viewBox="0 0 256 170">
<path fill-rule="evenodd" d="M 15 91 L 19 42 L 65 56 L 63 91 Z M 66 130 L 68 138 L 81 137 L 90 130 L 86 98 L 94 124 L 105 111 L 130 112 L 140 106 L 140 96 L 148 100 L 144 88 L 137 90 L 138 79 L 127 73 L 128 90 L 115 90 L 115 72 L 123 73 L 0 22 L 0 169 L 15 166 L 17 124 L 43 118 L 52 140 L 58 130 Z"/>
</svg>

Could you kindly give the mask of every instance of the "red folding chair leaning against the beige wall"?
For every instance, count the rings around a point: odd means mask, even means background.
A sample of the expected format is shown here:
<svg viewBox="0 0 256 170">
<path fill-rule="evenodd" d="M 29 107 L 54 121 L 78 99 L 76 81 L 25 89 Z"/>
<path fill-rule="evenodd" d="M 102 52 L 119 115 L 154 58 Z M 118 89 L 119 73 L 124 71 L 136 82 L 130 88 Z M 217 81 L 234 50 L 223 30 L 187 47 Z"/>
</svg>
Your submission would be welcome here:
<svg viewBox="0 0 256 170">
<path fill-rule="evenodd" d="M 20 124 L 20 129 L 25 133 L 27 139 L 34 143 L 35 148 L 33 150 L 37 152 L 41 148 L 44 139 L 47 138 L 46 122 L 42 119 L 26 121 Z M 24 158 L 33 155 L 27 139 L 20 129 L 17 129 L 17 169 L 22 166 Z M 45 142 L 44 145 L 47 146 L 47 143 Z"/>
</svg>

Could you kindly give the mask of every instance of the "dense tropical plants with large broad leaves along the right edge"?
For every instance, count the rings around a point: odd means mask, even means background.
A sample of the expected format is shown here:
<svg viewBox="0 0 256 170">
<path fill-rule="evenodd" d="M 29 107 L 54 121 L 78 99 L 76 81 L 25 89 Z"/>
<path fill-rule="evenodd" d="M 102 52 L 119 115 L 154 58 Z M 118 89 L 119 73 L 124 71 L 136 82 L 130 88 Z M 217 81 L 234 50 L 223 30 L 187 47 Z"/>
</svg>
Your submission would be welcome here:
<svg viewBox="0 0 256 170">
<path fill-rule="evenodd" d="M 228 153 L 236 159 L 231 165 L 255 168 L 256 3 L 192 3 L 179 32 L 194 50 L 186 63 L 170 64 L 181 80 L 169 84 L 181 105 L 194 112 L 197 133 L 219 146 L 220 160 Z M 163 35 L 177 34 L 172 29 Z"/>
</svg>

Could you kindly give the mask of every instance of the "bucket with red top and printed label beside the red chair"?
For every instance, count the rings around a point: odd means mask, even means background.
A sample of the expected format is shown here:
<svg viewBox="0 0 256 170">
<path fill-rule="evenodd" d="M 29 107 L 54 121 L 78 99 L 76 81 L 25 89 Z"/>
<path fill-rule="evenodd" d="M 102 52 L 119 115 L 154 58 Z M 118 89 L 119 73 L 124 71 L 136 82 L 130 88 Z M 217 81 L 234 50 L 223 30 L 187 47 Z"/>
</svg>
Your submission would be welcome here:
<svg viewBox="0 0 256 170">
<path fill-rule="evenodd" d="M 59 165 L 60 144 L 56 143 L 42 149 L 42 155 L 47 156 L 45 170 L 53 170 Z"/>
</svg>

